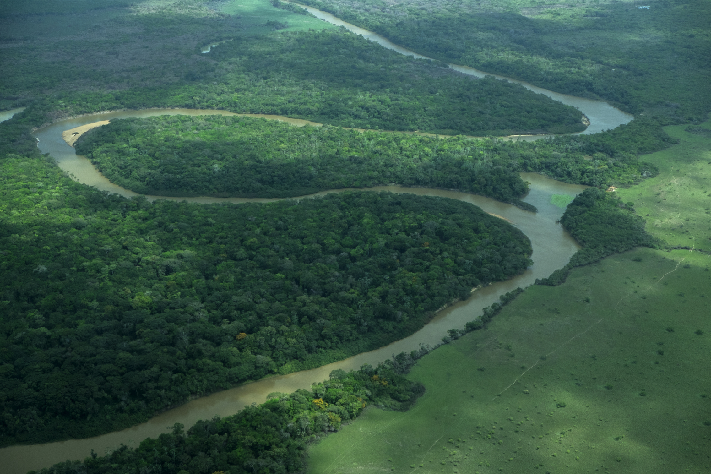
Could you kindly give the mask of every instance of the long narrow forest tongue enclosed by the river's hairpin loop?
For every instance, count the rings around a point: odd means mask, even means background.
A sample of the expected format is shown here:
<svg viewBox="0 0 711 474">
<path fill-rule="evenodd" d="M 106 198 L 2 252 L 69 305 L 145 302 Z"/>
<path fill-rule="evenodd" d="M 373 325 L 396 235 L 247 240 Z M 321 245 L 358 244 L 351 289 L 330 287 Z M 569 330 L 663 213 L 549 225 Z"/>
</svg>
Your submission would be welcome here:
<svg viewBox="0 0 711 474">
<path fill-rule="evenodd" d="M 515 170 L 492 163 L 491 145 L 252 117 L 164 116 L 114 120 L 75 147 L 112 183 L 149 195 L 282 198 L 398 183 L 518 203 L 528 188 Z"/>
</svg>

